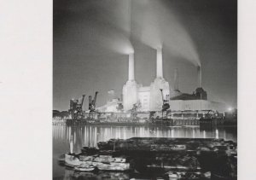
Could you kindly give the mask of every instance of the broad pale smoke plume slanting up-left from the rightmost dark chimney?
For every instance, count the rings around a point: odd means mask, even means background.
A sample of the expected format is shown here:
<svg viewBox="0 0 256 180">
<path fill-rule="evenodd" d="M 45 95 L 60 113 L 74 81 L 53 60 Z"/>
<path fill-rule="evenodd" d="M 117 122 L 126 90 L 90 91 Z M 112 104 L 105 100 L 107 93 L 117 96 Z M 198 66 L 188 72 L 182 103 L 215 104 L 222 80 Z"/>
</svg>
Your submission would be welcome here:
<svg viewBox="0 0 256 180">
<path fill-rule="evenodd" d="M 173 9 L 166 9 L 165 2 L 154 0 L 133 1 L 137 9 L 136 33 L 144 44 L 164 50 L 174 56 L 191 61 L 195 66 L 201 66 L 201 61 L 195 44 L 189 33 L 177 19 Z"/>
</svg>

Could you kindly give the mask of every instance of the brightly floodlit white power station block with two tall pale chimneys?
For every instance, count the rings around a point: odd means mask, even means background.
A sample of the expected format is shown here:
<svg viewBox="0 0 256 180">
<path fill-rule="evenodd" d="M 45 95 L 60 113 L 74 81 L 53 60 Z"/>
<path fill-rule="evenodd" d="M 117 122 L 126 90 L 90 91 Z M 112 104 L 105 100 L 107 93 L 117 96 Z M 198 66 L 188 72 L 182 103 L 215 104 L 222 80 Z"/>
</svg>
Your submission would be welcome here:
<svg viewBox="0 0 256 180">
<path fill-rule="evenodd" d="M 164 98 L 170 96 L 170 86 L 163 77 L 162 49 L 157 49 L 156 53 L 156 78 L 149 86 L 137 84 L 134 78 L 134 55 L 129 55 L 129 75 L 128 81 L 123 86 L 124 110 L 130 110 L 134 105 L 138 106 L 138 111 L 160 111 L 162 108 L 163 90 Z"/>
</svg>

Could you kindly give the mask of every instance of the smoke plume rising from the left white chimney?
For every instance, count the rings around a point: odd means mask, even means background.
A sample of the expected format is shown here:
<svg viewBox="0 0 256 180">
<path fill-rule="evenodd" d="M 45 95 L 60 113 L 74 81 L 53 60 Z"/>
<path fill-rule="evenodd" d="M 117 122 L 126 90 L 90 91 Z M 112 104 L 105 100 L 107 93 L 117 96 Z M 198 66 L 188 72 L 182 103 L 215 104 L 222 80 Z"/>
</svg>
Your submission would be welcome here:
<svg viewBox="0 0 256 180">
<path fill-rule="evenodd" d="M 109 9 L 109 3 L 114 3 Z M 101 6 L 104 26 L 101 31 L 104 46 L 116 53 L 129 55 L 134 53 L 131 36 L 131 0 L 111 1 L 108 6 Z"/>
</svg>

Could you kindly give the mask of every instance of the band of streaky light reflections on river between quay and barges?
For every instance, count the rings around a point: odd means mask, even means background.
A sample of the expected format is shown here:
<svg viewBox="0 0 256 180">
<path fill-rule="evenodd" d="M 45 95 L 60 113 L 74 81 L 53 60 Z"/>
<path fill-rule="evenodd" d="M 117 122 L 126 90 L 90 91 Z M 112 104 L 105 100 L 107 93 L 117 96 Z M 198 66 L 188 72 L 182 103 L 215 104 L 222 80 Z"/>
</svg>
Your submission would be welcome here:
<svg viewBox="0 0 256 180">
<path fill-rule="evenodd" d="M 79 153 L 83 146 L 96 147 L 97 142 L 110 138 L 127 139 L 145 137 L 224 138 L 236 142 L 236 128 L 201 130 L 199 127 L 134 127 L 134 126 L 53 126 L 54 142 L 68 143 L 73 138 L 73 151 Z"/>
</svg>

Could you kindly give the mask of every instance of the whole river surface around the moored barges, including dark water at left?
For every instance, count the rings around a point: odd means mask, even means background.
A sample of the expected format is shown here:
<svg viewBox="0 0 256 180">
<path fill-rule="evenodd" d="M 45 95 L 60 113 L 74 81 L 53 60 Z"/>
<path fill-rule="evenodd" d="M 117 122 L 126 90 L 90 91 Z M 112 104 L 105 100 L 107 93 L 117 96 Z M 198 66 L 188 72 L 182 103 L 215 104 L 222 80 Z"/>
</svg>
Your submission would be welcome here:
<svg viewBox="0 0 256 180">
<path fill-rule="evenodd" d="M 96 147 L 97 142 L 108 141 L 110 138 L 126 139 L 130 137 L 188 137 L 188 138 L 224 138 L 237 141 L 236 127 L 218 127 L 201 129 L 190 127 L 143 127 L 143 126 L 66 126 L 53 125 L 53 177 L 54 179 L 126 179 L 125 173 L 108 173 L 97 175 L 92 173 L 75 174 L 72 170 L 58 165 L 61 154 L 69 152 L 69 140 L 73 134 L 74 152 L 80 153 L 84 146 Z M 105 176 L 105 177 L 104 177 Z"/>
</svg>

